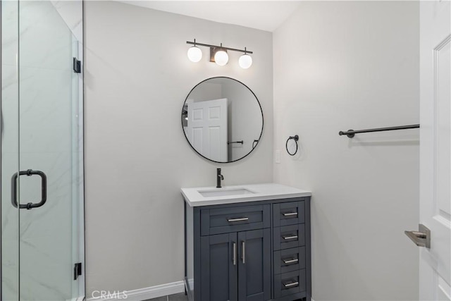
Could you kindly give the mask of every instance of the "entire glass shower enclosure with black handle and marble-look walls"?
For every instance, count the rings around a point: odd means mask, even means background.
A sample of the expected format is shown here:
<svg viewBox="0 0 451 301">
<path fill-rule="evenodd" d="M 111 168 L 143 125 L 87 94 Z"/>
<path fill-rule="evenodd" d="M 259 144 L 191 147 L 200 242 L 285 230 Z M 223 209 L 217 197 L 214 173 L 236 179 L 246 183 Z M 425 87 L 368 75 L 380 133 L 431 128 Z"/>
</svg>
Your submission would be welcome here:
<svg viewBox="0 0 451 301">
<path fill-rule="evenodd" d="M 1 300 L 85 297 L 82 1 L 1 1 Z"/>
</svg>

